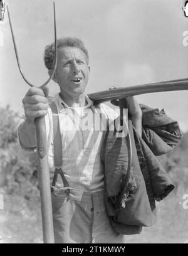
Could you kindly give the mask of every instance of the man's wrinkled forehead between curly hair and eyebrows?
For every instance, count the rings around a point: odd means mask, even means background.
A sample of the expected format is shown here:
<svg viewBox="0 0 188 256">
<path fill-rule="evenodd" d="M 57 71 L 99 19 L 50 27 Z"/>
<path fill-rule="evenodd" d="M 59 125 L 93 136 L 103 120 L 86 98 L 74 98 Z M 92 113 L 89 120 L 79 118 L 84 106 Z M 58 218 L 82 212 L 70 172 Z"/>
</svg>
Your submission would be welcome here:
<svg viewBox="0 0 188 256">
<path fill-rule="evenodd" d="M 80 48 L 70 46 L 59 47 L 58 57 L 60 60 L 72 60 L 73 57 L 86 60 L 86 55 Z"/>
</svg>

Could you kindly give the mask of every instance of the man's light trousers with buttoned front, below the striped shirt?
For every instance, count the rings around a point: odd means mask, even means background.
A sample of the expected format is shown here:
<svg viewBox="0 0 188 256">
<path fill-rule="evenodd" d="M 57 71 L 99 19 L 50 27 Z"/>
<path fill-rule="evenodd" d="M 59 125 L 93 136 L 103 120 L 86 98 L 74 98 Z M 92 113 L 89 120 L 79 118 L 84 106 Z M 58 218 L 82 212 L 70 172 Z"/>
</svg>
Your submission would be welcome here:
<svg viewBox="0 0 188 256">
<path fill-rule="evenodd" d="M 54 189 L 51 199 L 55 243 L 125 243 L 105 211 L 103 190 Z"/>
</svg>

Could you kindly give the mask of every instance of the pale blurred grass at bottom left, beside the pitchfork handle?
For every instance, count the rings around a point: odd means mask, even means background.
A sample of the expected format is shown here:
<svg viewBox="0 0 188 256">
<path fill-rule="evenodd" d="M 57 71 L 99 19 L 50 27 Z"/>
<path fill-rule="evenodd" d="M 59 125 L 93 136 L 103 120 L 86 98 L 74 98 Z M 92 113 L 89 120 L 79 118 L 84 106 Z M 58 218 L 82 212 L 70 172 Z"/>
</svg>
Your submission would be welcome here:
<svg viewBox="0 0 188 256">
<path fill-rule="evenodd" d="M 4 195 L 0 225 L 0 243 L 42 243 L 39 200 L 29 202 L 22 196 Z"/>
</svg>

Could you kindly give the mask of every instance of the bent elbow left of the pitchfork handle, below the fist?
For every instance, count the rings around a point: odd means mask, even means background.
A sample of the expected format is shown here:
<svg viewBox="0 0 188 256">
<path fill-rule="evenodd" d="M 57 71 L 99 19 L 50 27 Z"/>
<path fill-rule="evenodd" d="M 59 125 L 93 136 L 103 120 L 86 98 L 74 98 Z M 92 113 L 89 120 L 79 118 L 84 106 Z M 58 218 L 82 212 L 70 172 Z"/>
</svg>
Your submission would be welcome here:
<svg viewBox="0 0 188 256">
<path fill-rule="evenodd" d="M 25 120 L 18 127 L 18 136 L 21 146 L 26 148 L 36 147 L 36 127 L 34 122 Z"/>
</svg>

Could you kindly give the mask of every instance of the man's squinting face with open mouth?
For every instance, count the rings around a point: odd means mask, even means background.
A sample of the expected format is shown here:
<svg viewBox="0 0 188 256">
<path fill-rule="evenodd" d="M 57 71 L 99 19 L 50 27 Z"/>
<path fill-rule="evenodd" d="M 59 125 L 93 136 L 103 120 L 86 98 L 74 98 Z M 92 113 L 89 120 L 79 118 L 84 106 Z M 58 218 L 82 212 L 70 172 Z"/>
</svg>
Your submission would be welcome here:
<svg viewBox="0 0 188 256">
<path fill-rule="evenodd" d="M 89 74 L 90 67 L 86 55 L 80 48 L 58 48 L 55 82 L 60 85 L 61 93 L 69 96 L 81 95 L 85 92 Z"/>
</svg>

